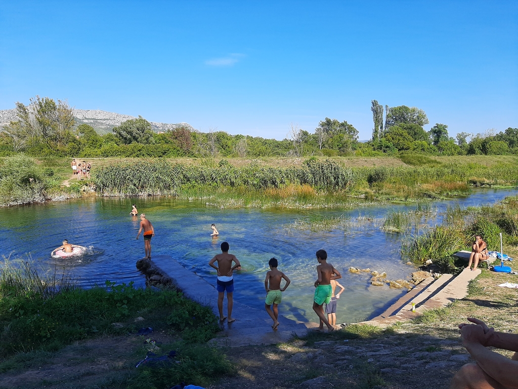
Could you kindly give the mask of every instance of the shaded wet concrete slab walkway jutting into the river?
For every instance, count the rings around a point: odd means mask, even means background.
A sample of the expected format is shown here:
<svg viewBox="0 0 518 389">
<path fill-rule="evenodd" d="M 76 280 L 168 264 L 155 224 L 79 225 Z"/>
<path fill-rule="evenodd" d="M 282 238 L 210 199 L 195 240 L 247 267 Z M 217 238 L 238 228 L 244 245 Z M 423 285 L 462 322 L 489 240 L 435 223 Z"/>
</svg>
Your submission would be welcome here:
<svg viewBox="0 0 518 389">
<path fill-rule="evenodd" d="M 199 275 L 185 269 L 169 255 L 155 255 L 152 262 L 175 280 L 185 296 L 200 304 L 208 305 L 219 317 L 218 292 L 211 284 Z M 227 312 L 226 297 L 223 312 L 225 314 Z M 265 310 L 249 307 L 237 301 L 234 301 L 232 316 L 236 321 L 231 324 L 224 321 L 221 325 L 222 331 L 211 342 L 229 347 L 274 344 L 288 341 L 294 336 L 303 337 L 307 334 L 308 327 L 315 325 L 310 323 L 307 326 L 279 315 L 281 324 L 278 330 L 274 331 L 271 328 L 271 318 Z"/>
</svg>

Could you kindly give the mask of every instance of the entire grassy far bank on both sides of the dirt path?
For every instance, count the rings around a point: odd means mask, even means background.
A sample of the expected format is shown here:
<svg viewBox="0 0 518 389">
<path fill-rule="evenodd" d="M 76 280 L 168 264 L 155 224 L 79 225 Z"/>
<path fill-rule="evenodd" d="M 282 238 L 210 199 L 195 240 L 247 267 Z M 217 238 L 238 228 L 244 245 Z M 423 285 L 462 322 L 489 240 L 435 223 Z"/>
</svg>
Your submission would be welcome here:
<svg viewBox="0 0 518 389">
<path fill-rule="evenodd" d="M 88 159 L 99 196 L 177 196 L 223 207 L 348 208 L 518 184 L 511 156 Z M 68 159 L 0 160 L 0 206 L 79 197 Z"/>
</svg>

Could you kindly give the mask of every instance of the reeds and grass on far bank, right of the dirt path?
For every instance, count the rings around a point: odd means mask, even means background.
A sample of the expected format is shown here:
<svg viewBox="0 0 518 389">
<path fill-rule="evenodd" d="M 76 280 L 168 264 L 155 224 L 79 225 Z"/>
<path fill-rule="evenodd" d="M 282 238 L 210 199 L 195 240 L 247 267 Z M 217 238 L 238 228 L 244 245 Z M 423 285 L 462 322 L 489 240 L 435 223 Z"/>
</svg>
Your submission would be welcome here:
<svg viewBox="0 0 518 389">
<path fill-rule="evenodd" d="M 288 166 L 152 160 L 101 166 L 93 182 L 100 196 L 178 196 L 224 207 L 348 207 L 365 200 L 439 199 L 466 195 L 476 186 L 518 183 L 518 165 L 511 159 L 490 165 L 410 160 L 414 165 L 376 167 L 316 158 Z"/>
</svg>

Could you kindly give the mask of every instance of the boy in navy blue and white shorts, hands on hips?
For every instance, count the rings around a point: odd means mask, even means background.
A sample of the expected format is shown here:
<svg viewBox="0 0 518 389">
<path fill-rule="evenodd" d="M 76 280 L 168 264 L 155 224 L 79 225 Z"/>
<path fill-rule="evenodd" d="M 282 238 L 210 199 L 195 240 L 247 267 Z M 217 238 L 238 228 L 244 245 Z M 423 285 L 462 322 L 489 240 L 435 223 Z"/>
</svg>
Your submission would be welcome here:
<svg viewBox="0 0 518 389">
<path fill-rule="evenodd" d="M 237 260 L 233 254 L 228 254 L 228 243 L 223 242 L 221 244 L 221 254 L 214 256 L 209 261 L 209 266 L 216 269 L 218 272 L 218 281 L 216 282 L 216 289 L 218 290 L 218 310 L 220 311 L 220 322 L 223 322 L 227 317 L 223 316 L 223 297 L 225 296 L 225 290 L 227 293 L 227 311 L 228 321 L 227 323 L 235 322 L 236 319 L 232 317 L 232 307 L 234 300 L 232 298 L 234 293 L 234 270 L 241 269 L 241 263 Z M 214 265 L 214 262 L 218 262 L 218 266 Z M 235 265 L 232 266 L 232 262 Z"/>
</svg>

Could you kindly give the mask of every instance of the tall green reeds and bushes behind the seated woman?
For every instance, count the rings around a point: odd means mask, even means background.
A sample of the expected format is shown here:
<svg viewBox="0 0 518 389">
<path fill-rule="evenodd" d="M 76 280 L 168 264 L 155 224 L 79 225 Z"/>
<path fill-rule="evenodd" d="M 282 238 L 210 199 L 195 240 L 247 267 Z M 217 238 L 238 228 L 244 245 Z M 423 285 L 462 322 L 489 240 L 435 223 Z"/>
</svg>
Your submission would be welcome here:
<svg viewBox="0 0 518 389">
<path fill-rule="evenodd" d="M 387 222 L 390 218 L 387 219 Z M 422 231 L 421 231 L 422 232 Z M 505 244 L 518 243 L 518 197 L 481 207 L 461 209 L 448 207 L 443 223 L 426 229 L 423 233 L 404 239 L 401 247 L 403 258 L 416 263 L 432 260 L 443 271 L 458 272 L 466 265 L 455 259 L 453 253 L 471 251 L 474 237 L 482 235 L 490 251 L 500 251 L 500 232 Z"/>
</svg>

